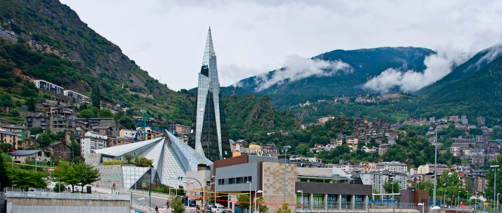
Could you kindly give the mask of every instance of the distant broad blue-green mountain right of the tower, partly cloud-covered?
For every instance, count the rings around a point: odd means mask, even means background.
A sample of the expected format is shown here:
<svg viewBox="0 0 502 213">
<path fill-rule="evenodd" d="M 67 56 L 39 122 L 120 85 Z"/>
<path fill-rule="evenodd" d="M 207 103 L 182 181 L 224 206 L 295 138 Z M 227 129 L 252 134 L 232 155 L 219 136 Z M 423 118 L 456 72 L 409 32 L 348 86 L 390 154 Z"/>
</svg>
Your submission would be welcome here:
<svg viewBox="0 0 502 213">
<path fill-rule="evenodd" d="M 425 48 L 415 47 L 383 47 L 361 50 L 335 50 L 313 57 L 313 61 L 323 60 L 335 65 L 343 62 L 350 67 L 337 71 L 332 68 L 323 68 L 321 73 L 313 74 L 305 78 L 296 79 L 295 73 L 288 74 L 288 68 L 274 70 L 265 76 L 254 76 L 243 79 L 237 83 L 247 91 L 257 95 L 268 95 L 272 98 L 274 107 L 287 109 L 299 103 L 331 99 L 341 96 L 366 95 L 371 93 L 362 88 L 368 79 L 380 75 L 389 69 L 415 70 L 423 72 L 425 69 L 424 59 L 435 52 Z M 278 73 L 280 73 L 278 75 Z M 303 73 L 300 73 L 303 75 Z M 277 81 L 278 76 L 286 76 Z M 277 83 L 270 87 L 262 88 L 262 85 L 275 80 Z M 273 82 L 272 82 L 273 83 Z"/>
</svg>

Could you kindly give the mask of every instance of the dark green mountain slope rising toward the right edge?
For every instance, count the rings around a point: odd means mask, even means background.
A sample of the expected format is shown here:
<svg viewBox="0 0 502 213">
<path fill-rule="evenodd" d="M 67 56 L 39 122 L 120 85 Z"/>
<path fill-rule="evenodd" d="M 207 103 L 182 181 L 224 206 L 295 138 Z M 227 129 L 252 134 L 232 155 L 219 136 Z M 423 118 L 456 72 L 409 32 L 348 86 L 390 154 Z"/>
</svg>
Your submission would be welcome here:
<svg viewBox="0 0 502 213">
<path fill-rule="evenodd" d="M 432 91 L 426 93 L 417 113 L 436 117 L 467 114 L 469 119 L 484 116 L 487 123 L 500 124 L 502 56 L 470 75 L 449 82 L 438 82 L 432 88 L 437 89 L 429 89 Z"/>
</svg>

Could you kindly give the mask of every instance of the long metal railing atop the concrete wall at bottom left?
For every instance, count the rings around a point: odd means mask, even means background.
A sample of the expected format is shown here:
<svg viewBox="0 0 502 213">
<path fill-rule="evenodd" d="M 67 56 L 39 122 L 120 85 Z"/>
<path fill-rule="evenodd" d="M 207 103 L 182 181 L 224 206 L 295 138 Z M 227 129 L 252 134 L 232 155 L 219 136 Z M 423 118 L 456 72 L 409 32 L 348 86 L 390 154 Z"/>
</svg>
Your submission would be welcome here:
<svg viewBox="0 0 502 213">
<path fill-rule="evenodd" d="M 94 199 L 94 200 L 131 200 L 129 194 L 85 194 L 57 193 L 40 191 L 7 191 L 7 197 L 54 198 L 54 199 Z"/>
</svg>

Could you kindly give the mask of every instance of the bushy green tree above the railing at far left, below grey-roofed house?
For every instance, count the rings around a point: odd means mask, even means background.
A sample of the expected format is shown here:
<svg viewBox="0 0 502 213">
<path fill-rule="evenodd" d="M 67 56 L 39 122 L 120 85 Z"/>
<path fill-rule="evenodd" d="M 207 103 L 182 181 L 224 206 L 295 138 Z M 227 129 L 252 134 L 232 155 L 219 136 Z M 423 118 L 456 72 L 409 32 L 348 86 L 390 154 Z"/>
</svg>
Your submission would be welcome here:
<svg viewBox="0 0 502 213">
<path fill-rule="evenodd" d="M 47 188 L 47 172 L 15 168 L 10 173 L 11 185 L 28 190 L 29 188 Z"/>
</svg>

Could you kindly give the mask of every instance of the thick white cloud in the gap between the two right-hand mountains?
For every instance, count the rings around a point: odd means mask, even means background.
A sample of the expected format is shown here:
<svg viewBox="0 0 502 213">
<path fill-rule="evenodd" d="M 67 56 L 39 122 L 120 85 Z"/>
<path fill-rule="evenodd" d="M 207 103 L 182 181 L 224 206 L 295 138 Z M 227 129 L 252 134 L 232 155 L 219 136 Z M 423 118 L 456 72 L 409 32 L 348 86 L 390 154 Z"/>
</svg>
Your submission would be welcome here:
<svg viewBox="0 0 502 213">
<path fill-rule="evenodd" d="M 424 65 L 427 68 L 423 73 L 414 70 L 401 71 L 389 68 L 377 77 L 367 81 L 363 88 L 378 93 L 386 93 L 394 88 L 402 92 L 416 92 L 445 77 L 453 67 L 465 62 L 469 57 L 469 54 L 458 52 L 433 54 L 425 58 Z"/>
</svg>

